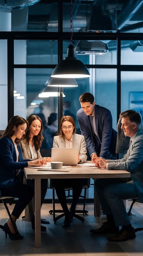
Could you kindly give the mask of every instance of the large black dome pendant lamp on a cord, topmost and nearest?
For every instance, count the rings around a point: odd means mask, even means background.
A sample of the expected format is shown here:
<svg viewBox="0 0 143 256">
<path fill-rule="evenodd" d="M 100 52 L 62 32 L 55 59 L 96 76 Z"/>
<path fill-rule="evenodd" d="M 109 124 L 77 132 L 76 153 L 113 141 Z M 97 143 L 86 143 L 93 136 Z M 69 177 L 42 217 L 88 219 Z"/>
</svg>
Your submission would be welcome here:
<svg viewBox="0 0 143 256">
<path fill-rule="evenodd" d="M 76 52 L 72 45 L 72 0 L 71 0 L 71 38 L 67 48 L 67 56 L 63 61 L 56 65 L 52 72 L 52 77 L 58 78 L 85 78 L 89 77 L 87 67 L 76 58 Z"/>
</svg>

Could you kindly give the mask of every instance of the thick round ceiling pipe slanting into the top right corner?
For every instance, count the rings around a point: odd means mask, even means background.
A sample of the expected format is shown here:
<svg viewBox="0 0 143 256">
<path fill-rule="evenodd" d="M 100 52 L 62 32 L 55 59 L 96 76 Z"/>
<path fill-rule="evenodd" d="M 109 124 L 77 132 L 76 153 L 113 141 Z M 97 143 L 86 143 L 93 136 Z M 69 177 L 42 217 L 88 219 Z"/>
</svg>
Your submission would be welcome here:
<svg viewBox="0 0 143 256">
<path fill-rule="evenodd" d="M 134 16 L 143 4 L 143 0 L 128 0 L 117 16 L 117 28 L 120 30 Z"/>
</svg>

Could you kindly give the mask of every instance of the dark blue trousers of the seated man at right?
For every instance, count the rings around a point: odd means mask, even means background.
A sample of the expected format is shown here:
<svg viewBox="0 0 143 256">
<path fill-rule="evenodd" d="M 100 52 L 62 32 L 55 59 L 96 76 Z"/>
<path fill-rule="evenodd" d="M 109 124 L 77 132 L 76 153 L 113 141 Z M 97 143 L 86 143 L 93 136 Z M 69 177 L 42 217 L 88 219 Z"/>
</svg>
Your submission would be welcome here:
<svg viewBox="0 0 143 256">
<path fill-rule="evenodd" d="M 137 197 L 137 190 L 130 178 L 104 178 L 95 182 L 103 214 L 113 215 L 116 226 L 127 226 L 130 219 L 123 200 Z M 127 181 L 127 182 L 126 182 Z"/>
</svg>

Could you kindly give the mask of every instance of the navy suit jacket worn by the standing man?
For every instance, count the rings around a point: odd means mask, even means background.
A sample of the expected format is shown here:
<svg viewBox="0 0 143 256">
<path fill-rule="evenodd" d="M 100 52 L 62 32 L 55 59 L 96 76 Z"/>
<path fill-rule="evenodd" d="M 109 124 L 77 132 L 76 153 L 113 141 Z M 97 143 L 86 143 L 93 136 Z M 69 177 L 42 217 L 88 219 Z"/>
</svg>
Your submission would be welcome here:
<svg viewBox="0 0 143 256">
<path fill-rule="evenodd" d="M 117 132 L 112 128 L 112 116 L 107 108 L 95 105 L 95 125 L 98 137 L 94 136 L 89 116 L 80 108 L 77 119 L 81 134 L 85 136 L 85 142 L 89 154 L 97 153 L 98 157 L 115 159 Z"/>
</svg>

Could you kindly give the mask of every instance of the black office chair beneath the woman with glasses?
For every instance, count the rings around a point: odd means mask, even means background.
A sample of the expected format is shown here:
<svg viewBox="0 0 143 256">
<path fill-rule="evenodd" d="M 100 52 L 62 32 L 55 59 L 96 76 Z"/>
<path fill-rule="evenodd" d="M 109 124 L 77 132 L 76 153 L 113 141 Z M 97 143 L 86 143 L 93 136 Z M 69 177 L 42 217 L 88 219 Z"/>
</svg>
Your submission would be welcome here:
<svg viewBox="0 0 143 256">
<path fill-rule="evenodd" d="M 90 187 L 90 178 L 85 179 L 85 183 L 82 186 L 82 189 L 85 189 L 84 191 L 84 195 L 80 195 L 81 198 L 83 198 L 83 210 L 76 210 L 76 213 L 83 213 L 83 214 L 87 214 L 88 211 L 85 210 L 85 203 L 86 203 L 86 192 L 87 189 Z M 63 213 L 63 210 L 56 210 L 55 209 L 55 186 L 54 186 L 54 182 L 53 179 L 49 179 L 49 189 L 52 189 L 52 202 L 53 202 L 53 210 L 50 210 L 49 213 L 52 214 L 53 213 L 53 220 L 54 222 L 56 222 L 57 220 L 59 220 L 60 218 L 62 218 L 63 216 L 65 216 L 65 214 Z M 72 195 L 70 194 L 70 191 L 72 190 L 72 186 L 71 187 L 65 187 L 65 191 L 68 191 L 68 195 L 66 196 L 66 198 L 72 197 Z M 55 213 L 62 213 L 58 216 L 55 216 Z M 82 216 L 79 216 L 78 214 L 75 214 L 74 216 L 75 218 L 77 218 L 78 220 L 81 220 L 82 222 L 84 222 L 84 218 Z"/>
</svg>

